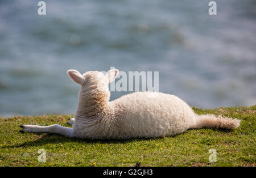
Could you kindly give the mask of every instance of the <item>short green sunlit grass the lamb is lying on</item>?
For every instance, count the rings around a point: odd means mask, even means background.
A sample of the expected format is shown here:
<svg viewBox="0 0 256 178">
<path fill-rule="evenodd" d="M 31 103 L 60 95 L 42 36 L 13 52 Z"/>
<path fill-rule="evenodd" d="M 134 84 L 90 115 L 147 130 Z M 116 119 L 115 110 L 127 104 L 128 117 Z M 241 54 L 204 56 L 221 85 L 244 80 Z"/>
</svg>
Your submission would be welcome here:
<svg viewBox="0 0 256 178">
<path fill-rule="evenodd" d="M 67 126 L 72 115 L 0 118 L 0 166 L 255 166 L 256 105 L 193 109 L 238 118 L 241 126 L 232 131 L 194 129 L 175 137 L 92 141 L 19 133 L 23 124 Z M 39 149 L 46 150 L 46 163 L 38 162 Z M 216 149 L 216 163 L 209 162 L 209 149 Z"/>
</svg>

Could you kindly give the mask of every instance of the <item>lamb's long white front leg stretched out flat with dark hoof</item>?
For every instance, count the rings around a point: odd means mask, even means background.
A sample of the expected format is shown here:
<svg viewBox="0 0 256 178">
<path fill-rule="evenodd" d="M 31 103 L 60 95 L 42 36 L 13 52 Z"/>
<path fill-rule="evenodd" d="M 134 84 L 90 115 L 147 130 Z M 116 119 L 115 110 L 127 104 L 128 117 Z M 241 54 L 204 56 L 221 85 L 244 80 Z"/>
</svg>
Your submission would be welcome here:
<svg viewBox="0 0 256 178">
<path fill-rule="evenodd" d="M 61 125 L 49 125 L 49 126 L 39 126 L 39 125 L 20 125 L 23 130 L 21 133 L 31 132 L 31 133 L 56 133 L 65 135 L 66 137 L 73 137 L 73 128 L 65 128 Z"/>
</svg>

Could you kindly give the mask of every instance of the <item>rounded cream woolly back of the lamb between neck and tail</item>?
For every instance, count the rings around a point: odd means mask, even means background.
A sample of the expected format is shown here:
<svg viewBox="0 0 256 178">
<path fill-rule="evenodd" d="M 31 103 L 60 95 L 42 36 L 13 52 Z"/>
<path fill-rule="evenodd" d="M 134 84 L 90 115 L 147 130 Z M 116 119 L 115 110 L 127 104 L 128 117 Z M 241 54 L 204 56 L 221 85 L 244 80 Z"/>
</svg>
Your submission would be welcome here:
<svg viewBox="0 0 256 178">
<path fill-rule="evenodd" d="M 195 113 L 177 96 L 161 92 L 134 92 L 112 101 L 119 135 L 159 137 L 187 130 Z"/>
</svg>

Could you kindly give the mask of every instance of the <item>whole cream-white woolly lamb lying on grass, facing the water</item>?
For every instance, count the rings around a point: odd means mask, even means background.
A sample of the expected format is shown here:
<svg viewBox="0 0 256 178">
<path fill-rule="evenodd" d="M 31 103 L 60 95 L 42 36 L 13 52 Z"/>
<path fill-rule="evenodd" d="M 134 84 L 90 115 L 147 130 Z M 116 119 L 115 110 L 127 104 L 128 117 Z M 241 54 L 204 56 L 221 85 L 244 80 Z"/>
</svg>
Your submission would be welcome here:
<svg viewBox="0 0 256 178">
<path fill-rule="evenodd" d="M 69 77 L 81 85 L 75 118 L 68 124 L 38 126 L 21 125 L 20 132 L 57 133 L 86 139 L 129 139 L 173 136 L 195 128 L 235 129 L 240 120 L 214 115 L 197 115 L 177 96 L 161 92 L 134 92 L 109 101 L 108 84 L 119 71 L 109 70 L 80 74 L 68 70 Z"/>
</svg>

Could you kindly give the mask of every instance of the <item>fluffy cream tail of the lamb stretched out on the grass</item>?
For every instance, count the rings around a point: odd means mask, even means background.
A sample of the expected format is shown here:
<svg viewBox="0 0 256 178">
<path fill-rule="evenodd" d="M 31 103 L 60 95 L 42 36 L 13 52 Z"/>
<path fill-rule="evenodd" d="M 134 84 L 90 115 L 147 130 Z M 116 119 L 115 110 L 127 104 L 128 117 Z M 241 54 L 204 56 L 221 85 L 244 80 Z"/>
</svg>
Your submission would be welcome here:
<svg viewBox="0 0 256 178">
<path fill-rule="evenodd" d="M 197 115 L 193 128 L 223 128 L 236 129 L 240 126 L 240 120 L 224 116 Z"/>
</svg>

